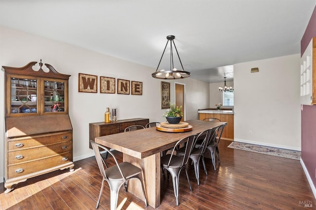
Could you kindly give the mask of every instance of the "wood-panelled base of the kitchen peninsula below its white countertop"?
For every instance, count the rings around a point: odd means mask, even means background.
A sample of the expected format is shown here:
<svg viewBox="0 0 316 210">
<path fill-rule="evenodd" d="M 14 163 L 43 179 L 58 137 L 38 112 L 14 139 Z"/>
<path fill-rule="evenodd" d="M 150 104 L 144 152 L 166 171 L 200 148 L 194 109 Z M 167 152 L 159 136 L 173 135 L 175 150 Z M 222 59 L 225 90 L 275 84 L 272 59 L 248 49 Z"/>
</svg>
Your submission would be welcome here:
<svg viewBox="0 0 316 210">
<path fill-rule="evenodd" d="M 222 122 L 227 122 L 223 130 L 221 139 L 234 141 L 234 115 L 233 114 L 217 114 L 217 113 L 198 113 L 198 119 L 217 118 Z"/>
</svg>

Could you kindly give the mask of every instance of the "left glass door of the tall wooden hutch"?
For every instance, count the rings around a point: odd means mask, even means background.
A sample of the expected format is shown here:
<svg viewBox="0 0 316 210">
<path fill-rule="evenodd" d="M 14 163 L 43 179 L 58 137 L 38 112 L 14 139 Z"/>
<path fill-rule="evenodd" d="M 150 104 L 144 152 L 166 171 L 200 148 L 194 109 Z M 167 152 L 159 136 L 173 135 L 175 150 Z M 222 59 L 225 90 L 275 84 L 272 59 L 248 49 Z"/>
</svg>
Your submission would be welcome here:
<svg viewBox="0 0 316 210">
<path fill-rule="evenodd" d="M 11 114 L 38 113 L 37 79 L 11 77 Z"/>
</svg>

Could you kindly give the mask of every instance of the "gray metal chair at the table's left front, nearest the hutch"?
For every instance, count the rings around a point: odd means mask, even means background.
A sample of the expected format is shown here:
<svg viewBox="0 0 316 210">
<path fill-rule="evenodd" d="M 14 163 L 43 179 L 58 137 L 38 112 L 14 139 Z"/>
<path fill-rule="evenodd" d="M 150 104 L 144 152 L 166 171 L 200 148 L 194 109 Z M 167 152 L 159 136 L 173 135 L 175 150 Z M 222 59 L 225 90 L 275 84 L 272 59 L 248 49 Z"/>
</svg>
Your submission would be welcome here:
<svg viewBox="0 0 316 210">
<path fill-rule="evenodd" d="M 95 158 L 97 160 L 101 175 L 102 175 L 102 185 L 101 190 L 99 194 L 99 199 L 97 201 L 96 209 L 99 207 L 100 199 L 104 187 L 104 181 L 107 181 L 110 186 L 111 190 L 111 210 L 117 209 L 118 204 L 118 191 L 119 188 L 122 186 L 122 184 L 127 183 L 128 180 L 137 179 L 140 180 L 143 190 L 143 196 L 145 201 L 145 206 L 147 207 L 147 199 L 145 195 L 145 189 L 144 189 L 144 183 L 143 183 L 143 176 L 142 176 L 142 169 L 134 166 L 131 163 L 128 162 L 121 162 L 118 163 L 117 159 L 115 158 L 114 154 L 108 150 L 106 147 L 103 147 L 102 145 L 95 143 L 93 141 L 90 141 L 92 148 L 95 153 Z M 106 150 L 111 156 L 113 157 L 116 165 L 108 167 L 105 163 L 104 159 L 101 156 L 101 153 L 99 149 L 102 148 L 103 150 Z"/>
</svg>

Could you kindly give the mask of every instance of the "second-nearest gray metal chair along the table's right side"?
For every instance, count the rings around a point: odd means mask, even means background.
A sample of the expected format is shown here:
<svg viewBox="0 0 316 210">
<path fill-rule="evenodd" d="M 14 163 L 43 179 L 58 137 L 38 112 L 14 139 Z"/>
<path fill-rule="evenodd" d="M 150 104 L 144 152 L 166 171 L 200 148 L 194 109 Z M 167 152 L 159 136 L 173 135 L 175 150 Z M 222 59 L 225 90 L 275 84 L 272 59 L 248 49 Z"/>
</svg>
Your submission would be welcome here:
<svg viewBox="0 0 316 210">
<path fill-rule="evenodd" d="M 195 141 L 195 145 L 193 146 L 193 149 L 190 153 L 190 159 L 192 160 L 193 164 L 194 164 L 194 172 L 197 178 L 197 185 L 199 185 L 199 160 L 202 158 L 202 162 L 203 162 L 203 168 L 205 171 L 205 175 L 207 176 L 207 171 L 206 171 L 206 166 L 205 166 L 205 161 L 204 161 L 204 152 L 206 150 L 206 147 L 208 145 L 208 142 L 210 140 L 210 135 L 212 133 L 212 129 L 209 130 L 205 130 L 201 133 L 198 134 L 196 141 Z M 196 147 L 196 142 L 200 141 L 201 144 L 199 146 Z M 179 150 L 177 150 L 177 156 L 183 156 L 185 153 L 185 148 L 180 148 Z"/>
</svg>

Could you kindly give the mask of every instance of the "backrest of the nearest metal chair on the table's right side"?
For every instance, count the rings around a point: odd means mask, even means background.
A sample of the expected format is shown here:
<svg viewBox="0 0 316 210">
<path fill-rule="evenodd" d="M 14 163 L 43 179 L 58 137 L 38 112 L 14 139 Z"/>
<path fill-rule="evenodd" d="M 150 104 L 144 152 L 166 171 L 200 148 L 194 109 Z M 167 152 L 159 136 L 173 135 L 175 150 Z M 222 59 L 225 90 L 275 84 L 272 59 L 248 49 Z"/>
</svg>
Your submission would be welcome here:
<svg viewBox="0 0 316 210">
<path fill-rule="evenodd" d="M 171 159 L 174 155 L 172 155 L 174 153 L 174 151 L 176 151 L 176 149 L 178 148 L 178 146 L 180 145 L 183 145 L 183 147 L 185 147 L 185 150 L 184 150 L 184 156 L 183 156 L 183 160 L 182 160 L 182 164 L 181 164 L 181 167 L 185 166 L 188 161 L 189 161 L 189 157 L 190 157 L 190 153 L 191 151 L 193 150 L 193 145 L 194 145 L 194 142 L 195 142 L 195 139 L 196 139 L 196 136 L 197 134 L 193 134 L 191 136 L 188 136 L 188 137 L 185 137 L 183 139 L 180 139 L 176 145 L 174 146 L 172 152 L 171 152 L 171 155 L 170 155 L 170 159 L 169 159 L 169 162 L 168 162 L 168 166 L 169 167 L 169 164 L 171 162 Z"/>
</svg>

